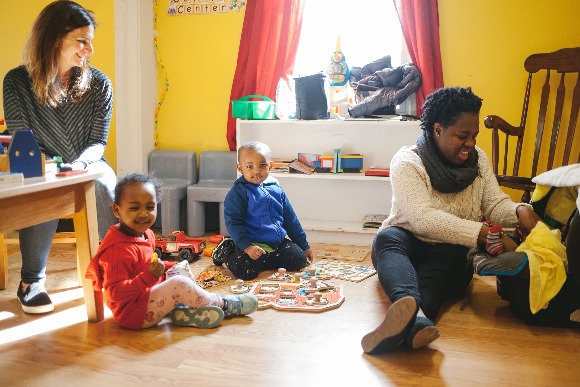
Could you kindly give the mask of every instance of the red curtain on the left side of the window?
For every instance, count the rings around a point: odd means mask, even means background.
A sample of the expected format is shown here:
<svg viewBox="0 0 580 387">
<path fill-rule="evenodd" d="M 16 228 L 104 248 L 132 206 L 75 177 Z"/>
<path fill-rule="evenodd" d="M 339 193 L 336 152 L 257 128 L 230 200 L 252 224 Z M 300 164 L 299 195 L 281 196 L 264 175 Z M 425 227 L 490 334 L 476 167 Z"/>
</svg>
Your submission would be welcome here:
<svg viewBox="0 0 580 387">
<path fill-rule="evenodd" d="M 304 0 L 248 0 L 230 100 L 260 94 L 272 100 L 280 78 L 292 74 Z M 226 138 L 236 150 L 236 120 L 228 112 Z"/>
</svg>

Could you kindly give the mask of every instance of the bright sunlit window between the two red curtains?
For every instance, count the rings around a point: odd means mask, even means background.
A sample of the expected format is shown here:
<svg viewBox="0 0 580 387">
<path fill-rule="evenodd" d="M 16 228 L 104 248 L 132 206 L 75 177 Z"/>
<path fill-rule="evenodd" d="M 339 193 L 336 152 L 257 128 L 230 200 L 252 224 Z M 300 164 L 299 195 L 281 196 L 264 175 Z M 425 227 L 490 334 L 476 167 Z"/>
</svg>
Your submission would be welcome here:
<svg viewBox="0 0 580 387">
<path fill-rule="evenodd" d="M 306 0 L 304 7 L 294 76 L 326 74 L 339 35 L 349 67 L 385 55 L 393 67 L 409 61 L 392 0 Z"/>
</svg>

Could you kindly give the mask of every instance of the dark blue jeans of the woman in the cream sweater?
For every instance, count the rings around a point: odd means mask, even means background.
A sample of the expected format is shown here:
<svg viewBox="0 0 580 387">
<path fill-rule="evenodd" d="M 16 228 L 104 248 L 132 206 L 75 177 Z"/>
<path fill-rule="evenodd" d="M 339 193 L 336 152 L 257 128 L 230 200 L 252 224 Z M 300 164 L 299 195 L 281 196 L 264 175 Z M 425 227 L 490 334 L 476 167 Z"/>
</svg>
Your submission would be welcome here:
<svg viewBox="0 0 580 387">
<path fill-rule="evenodd" d="M 403 228 L 389 227 L 375 236 L 371 258 L 391 302 L 411 296 L 425 315 L 435 320 L 441 303 L 463 294 L 473 278 L 468 250 L 465 246 L 426 243 Z"/>
</svg>

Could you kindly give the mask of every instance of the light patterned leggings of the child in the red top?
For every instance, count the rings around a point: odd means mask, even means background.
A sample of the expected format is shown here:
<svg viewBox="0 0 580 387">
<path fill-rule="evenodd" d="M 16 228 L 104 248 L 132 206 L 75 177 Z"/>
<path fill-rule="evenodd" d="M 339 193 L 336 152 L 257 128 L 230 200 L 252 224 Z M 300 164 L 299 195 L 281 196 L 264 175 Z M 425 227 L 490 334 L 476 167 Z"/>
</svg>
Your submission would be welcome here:
<svg viewBox="0 0 580 387">
<path fill-rule="evenodd" d="M 194 309 L 205 305 L 222 307 L 223 299 L 219 294 L 202 289 L 190 278 L 176 275 L 151 288 L 143 328 L 159 324 L 159 321 L 167 316 L 177 304 L 184 304 Z"/>
</svg>

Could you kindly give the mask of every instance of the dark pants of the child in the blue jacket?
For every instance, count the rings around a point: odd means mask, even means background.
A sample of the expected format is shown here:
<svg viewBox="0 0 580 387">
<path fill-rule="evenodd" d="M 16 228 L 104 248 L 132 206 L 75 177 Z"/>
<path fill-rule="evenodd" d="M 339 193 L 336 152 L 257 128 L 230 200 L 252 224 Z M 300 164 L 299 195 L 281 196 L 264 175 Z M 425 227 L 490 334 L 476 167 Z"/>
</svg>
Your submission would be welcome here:
<svg viewBox="0 0 580 387">
<path fill-rule="evenodd" d="M 278 270 L 283 267 L 288 271 L 300 270 L 308 265 L 306 254 L 298 245 L 284 239 L 278 249 L 252 259 L 236 246 L 225 259 L 225 264 L 236 278 L 252 280 L 264 270 Z"/>
</svg>

